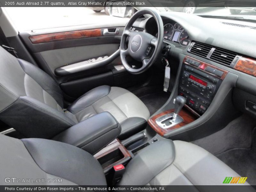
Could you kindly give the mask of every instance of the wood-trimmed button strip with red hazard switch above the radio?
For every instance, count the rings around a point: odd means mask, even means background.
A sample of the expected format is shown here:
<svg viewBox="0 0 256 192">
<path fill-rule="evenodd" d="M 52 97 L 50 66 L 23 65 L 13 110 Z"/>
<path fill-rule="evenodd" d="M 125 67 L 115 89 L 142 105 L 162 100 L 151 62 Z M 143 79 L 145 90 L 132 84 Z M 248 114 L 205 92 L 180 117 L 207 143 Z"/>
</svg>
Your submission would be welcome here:
<svg viewBox="0 0 256 192">
<path fill-rule="evenodd" d="M 200 65 L 199 65 L 198 67 L 196 67 L 196 66 L 194 66 L 194 65 L 191 65 L 190 63 L 187 63 L 187 62 L 186 62 L 187 58 L 199 62 Z M 214 66 L 214 65 L 211 65 L 211 64 L 209 64 L 209 63 L 205 63 L 204 61 L 201 61 L 201 60 L 195 59 L 195 58 L 193 58 L 193 57 L 189 57 L 189 56 L 186 56 L 186 57 L 184 58 L 183 63 L 186 63 L 187 65 L 189 65 L 189 66 L 191 66 L 191 67 L 194 67 L 194 68 L 196 68 L 196 69 L 198 69 L 198 70 L 204 71 L 205 73 L 208 73 L 209 75 L 215 76 L 215 77 L 217 77 L 217 78 L 219 78 L 219 79 L 222 79 L 222 80 L 223 80 L 223 79 L 227 76 L 227 74 L 228 74 L 228 71 L 226 71 L 226 70 L 224 70 L 224 69 L 218 68 L 218 67 L 216 67 L 216 66 Z M 201 69 L 200 67 L 203 66 L 203 65 L 204 65 L 204 69 Z M 217 76 L 217 75 L 215 75 L 215 74 L 213 74 L 213 73 L 210 73 L 210 72 L 206 71 L 205 69 L 206 69 L 206 67 L 208 67 L 208 66 L 209 66 L 209 67 L 212 67 L 212 68 L 215 68 L 215 69 L 217 69 L 217 70 L 222 71 L 222 72 L 223 72 L 223 75 L 220 77 L 220 76 Z"/>
</svg>

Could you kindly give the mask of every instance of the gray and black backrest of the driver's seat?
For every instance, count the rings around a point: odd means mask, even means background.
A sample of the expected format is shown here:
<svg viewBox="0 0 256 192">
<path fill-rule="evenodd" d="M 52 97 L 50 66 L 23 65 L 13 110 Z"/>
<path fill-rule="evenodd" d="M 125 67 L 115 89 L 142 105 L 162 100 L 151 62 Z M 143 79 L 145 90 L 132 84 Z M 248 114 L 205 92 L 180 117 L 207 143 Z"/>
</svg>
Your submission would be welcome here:
<svg viewBox="0 0 256 192">
<path fill-rule="evenodd" d="M 64 114 L 60 87 L 49 75 L 2 47 L 0 60 L 2 121 L 27 137 L 39 138 L 52 138 L 75 124 Z"/>
</svg>

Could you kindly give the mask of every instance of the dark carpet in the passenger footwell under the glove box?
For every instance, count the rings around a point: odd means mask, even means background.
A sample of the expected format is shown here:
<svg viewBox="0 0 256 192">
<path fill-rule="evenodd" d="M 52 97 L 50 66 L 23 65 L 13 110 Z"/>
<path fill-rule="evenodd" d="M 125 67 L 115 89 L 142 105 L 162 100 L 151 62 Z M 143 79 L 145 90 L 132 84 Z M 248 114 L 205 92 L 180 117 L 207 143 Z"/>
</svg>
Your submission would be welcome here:
<svg viewBox="0 0 256 192">
<path fill-rule="evenodd" d="M 224 129 L 192 143 L 208 150 L 256 185 L 256 120 L 242 115 Z"/>
</svg>

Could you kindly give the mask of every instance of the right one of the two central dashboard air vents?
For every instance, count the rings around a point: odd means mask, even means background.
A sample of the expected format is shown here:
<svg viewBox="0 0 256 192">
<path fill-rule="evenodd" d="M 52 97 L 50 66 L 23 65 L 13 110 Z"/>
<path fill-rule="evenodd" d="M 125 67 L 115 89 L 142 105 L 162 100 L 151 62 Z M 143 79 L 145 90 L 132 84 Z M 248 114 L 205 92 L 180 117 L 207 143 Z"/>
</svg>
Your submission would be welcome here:
<svg viewBox="0 0 256 192">
<path fill-rule="evenodd" d="M 236 53 L 227 51 L 225 49 L 216 48 L 212 52 L 210 59 L 225 65 L 231 65 L 232 61 L 237 56 Z"/>
</svg>

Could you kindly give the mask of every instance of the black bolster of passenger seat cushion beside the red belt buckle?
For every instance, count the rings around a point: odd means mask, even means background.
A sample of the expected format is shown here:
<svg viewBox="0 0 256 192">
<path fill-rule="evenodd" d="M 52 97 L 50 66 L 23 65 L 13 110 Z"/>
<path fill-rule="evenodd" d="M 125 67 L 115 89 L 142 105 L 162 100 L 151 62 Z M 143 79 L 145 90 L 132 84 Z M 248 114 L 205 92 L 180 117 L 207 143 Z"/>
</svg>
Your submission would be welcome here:
<svg viewBox="0 0 256 192">
<path fill-rule="evenodd" d="M 172 140 L 160 140 L 142 149 L 125 167 L 117 185 L 146 185 L 158 173 L 172 164 L 175 148 Z"/>
</svg>

